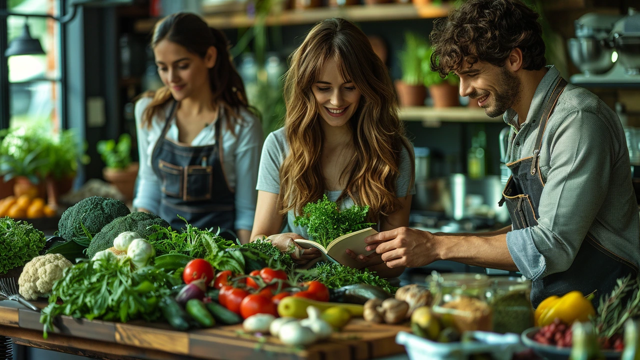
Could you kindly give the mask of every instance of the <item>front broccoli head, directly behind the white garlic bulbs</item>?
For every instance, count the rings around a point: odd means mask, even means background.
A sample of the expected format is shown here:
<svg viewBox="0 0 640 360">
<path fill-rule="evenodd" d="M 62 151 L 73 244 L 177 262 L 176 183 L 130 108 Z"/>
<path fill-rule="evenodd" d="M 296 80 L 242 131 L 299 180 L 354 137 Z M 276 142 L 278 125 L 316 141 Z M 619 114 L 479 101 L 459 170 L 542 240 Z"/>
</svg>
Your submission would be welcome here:
<svg viewBox="0 0 640 360">
<path fill-rule="evenodd" d="M 93 237 L 89 248 L 86 249 L 86 256 L 91 259 L 97 252 L 113 247 L 113 240 L 125 231 L 134 231 L 146 239 L 150 234 L 155 233 L 153 229 L 148 229 L 152 225 L 170 226 L 163 218 L 152 213 L 143 213 L 142 211 L 116 218 Z"/>
</svg>

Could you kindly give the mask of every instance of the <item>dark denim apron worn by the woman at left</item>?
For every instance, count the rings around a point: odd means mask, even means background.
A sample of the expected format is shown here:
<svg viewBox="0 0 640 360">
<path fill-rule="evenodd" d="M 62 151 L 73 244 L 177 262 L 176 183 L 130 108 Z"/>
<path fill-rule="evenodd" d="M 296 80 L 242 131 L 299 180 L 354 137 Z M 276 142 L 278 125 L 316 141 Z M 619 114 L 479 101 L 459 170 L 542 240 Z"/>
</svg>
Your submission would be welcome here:
<svg viewBox="0 0 640 360">
<path fill-rule="evenodd" d="M 222 157 L 222 120 L 220 107 L 215 122 L 215 145 L 182 146 L 166 138 L 177 102 L 173 102 L 164 128 L 151 156 L 151 164 L 161 183 L 159 217 L 174 229 L 189 224 L 200 229 L 220 227 L 221 233 L 231 232 L 236 220 L 236 196 L 227 184 Z M 227 237 L 227 236 L 225 236 Z M 235 235 L 231 234 L 235 239 Z"/>
</svg>

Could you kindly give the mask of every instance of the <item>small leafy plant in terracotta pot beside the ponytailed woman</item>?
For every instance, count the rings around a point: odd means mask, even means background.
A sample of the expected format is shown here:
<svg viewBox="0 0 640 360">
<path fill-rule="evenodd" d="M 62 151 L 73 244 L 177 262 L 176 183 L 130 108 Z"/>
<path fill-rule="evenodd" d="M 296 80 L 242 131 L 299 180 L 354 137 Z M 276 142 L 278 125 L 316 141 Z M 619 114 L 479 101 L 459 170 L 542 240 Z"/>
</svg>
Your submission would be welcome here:
<svg viewBox="0 0 640 360">
<path fill-rule="evenodd" d="M 138 163 L 131 162 L 131 136 L 122 134 L 115 140 L 100 140 L 97 151 L 106 167 L 102 176 L 120 190 L 127 200 L 133 199 L 133 188 L 138 176 Z"/>
</svg>

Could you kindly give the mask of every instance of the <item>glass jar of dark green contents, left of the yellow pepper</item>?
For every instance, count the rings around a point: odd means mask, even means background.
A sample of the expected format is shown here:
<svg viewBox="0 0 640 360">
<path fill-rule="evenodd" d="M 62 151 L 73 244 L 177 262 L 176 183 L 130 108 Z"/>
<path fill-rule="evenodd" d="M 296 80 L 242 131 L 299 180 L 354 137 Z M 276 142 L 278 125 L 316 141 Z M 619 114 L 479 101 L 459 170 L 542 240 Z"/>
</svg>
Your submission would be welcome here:
<svg viewBox="0 0 640 360">
<path fill-rule="evenodd" d="M 520 334 L 533 326 L 531 281 L 524 277 L 491 277 L 486 293 L 493 312 L 493 331 Z"/>
</svg>

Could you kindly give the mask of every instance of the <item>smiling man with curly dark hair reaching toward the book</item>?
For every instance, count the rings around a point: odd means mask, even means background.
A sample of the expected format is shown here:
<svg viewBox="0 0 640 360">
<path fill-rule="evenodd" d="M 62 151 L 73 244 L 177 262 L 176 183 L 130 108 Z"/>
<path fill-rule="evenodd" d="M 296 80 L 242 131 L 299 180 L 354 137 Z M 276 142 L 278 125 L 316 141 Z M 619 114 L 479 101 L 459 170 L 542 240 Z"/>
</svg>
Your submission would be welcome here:
<svg viewBox="0 0 640 360">
<path fill-rule="evenodd" d="M 520 0 L 470 0 L 431 33 L 431 68 L 460 76 L 460 95 L 511 126 L 512 176 L 500 203 L 512 225 L 482 234 L 406 227 L 367 238 L 387 266 L 438 259 L 518 270 L 534 307 L 572 290 L 610 293 L 637 275 L 640 218 L 620 119 L 545 66 L 538 13 Z"/>
</svg>

